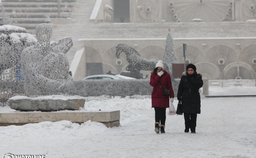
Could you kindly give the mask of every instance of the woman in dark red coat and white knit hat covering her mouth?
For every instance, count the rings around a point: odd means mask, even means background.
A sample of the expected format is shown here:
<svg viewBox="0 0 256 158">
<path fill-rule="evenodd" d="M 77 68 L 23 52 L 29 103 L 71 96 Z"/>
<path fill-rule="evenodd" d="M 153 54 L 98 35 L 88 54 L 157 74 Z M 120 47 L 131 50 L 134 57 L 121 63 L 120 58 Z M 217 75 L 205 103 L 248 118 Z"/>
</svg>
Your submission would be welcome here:
<svg viewBox="0 0 256 158">
<path fill-rule="evenodd" d="M 166 108 L 170 105 L 169 98 L 170 102 L 173 102 L 174 93 L 170 74 L 164 70 L 161 60 L 157 62 L 156 68 L 151 72 L 150 85 L 153 86 L 152 107 L 155 109 L 155 132 L 159 133 L 160 129 L 161 133 L 165 133 Z M 170 90 L 169 97 L 163 95 L 163 88 Z"/>
</svg>

